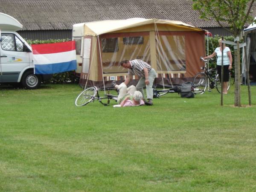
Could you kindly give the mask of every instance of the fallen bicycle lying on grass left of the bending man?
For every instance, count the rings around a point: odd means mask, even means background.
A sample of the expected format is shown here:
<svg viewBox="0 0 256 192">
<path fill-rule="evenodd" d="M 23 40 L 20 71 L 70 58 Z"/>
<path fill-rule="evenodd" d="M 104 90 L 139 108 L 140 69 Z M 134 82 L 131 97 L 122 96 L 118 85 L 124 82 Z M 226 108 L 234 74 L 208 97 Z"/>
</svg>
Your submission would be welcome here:
<svg viewBox="0 0 256 192">
<path fill-rule="evenodd" d="M 110 100 L 113 99 L 117 101 L 117 96 L 114 96 L 112 94 L 109 94 L 109 90 L 112 90 L 111 88 L 108 88 L 108 94 L 105 94 L 104 96 L 99 96 L 99 90 L 97 87 L 89 87 L 85 90 L 83 90 L 77 97 L 75 104 L 76 106 L 84 106 L 87 105 L 90 102 L 94 102 L 94 100 L 98 100 L 102 105 L 108 105 L 110 103 Z M 107 103 L 102 102 L 102 99 L 108 99 Z"/>
</svg>

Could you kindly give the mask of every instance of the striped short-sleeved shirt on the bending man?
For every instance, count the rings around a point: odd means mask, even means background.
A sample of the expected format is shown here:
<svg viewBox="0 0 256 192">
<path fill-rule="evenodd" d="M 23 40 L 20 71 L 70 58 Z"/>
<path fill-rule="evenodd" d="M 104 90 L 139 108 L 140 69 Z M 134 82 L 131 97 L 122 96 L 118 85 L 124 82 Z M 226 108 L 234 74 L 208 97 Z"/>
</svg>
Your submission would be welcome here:
<svg viewBox="0 0 256 192">
<path fill-rule="evenodd" d="M 145 77 L 143 69 L 147 68 L 148 72 L 151 70 L 151 66 L 140 59 L 132 60 L 130 63 L 131 69 L 128 69 L 128 76 L 137 75 L 139 77 Z"/>
</svg>

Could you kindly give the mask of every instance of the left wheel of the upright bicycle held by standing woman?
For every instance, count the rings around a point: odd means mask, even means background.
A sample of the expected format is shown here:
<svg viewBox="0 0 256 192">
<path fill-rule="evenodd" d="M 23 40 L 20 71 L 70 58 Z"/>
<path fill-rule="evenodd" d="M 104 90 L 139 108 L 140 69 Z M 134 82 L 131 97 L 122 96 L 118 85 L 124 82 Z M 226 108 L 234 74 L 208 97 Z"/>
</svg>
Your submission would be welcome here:
<svg viewBox="0 0 256 192">
<path fill-rule="evenodd" d="M 204 73 L 198 73 L 193 80 L 195 89 L 194 93 L 203 94 L 207 87 L 207 76 Z"/>
</svg>

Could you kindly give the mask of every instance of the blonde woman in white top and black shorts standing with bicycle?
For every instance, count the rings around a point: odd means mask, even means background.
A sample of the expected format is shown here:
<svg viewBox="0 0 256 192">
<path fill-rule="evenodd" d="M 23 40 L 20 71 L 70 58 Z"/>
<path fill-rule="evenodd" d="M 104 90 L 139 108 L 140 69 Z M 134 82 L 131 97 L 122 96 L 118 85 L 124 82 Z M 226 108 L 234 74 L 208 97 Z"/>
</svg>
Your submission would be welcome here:
<svg viewBox="0 0 256 192">
<path fill-rule="evenodd" d="M 221 79 L 221 39 L 218 40 L 220 47 L 217 47 L 212 55 L 204 57 L 204 59 L 212 58 L 217 55 L 217 72 Z M 223 44 L 223 94 L 227 94 L 227 86 L 229 81 L 229 70 L 232 69 L 232 55 L 229 47 Z"/>
</svg>

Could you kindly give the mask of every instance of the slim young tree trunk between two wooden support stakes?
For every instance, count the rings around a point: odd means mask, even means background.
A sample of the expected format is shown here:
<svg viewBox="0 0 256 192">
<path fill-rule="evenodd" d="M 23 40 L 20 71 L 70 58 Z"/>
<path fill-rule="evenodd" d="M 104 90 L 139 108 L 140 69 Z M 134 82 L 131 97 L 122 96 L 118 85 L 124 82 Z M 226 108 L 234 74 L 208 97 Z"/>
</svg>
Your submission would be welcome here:
<svg viewBox="0 0 256 192">
<path fill-rule="evenodd" d="M 241 68 L 240 68 L 240 49 L 239 49 L 239 41 L 237 43 L 237 49 L 235 52 L 235 102 L 234 105 L 237 107 L 241 107 Z"/>
</svg>

